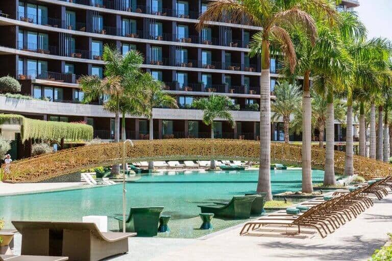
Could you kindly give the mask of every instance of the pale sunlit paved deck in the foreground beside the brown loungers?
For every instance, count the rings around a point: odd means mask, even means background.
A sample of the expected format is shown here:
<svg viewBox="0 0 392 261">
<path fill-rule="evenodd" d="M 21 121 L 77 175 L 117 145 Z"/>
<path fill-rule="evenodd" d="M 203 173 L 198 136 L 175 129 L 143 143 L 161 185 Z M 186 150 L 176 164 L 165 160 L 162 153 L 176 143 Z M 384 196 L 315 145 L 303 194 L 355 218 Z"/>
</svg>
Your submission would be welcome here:
<svg viewBox="0 0 392 261">
<path fill-rule="evenodd" d="M 240 224 L 199 239 L 130 238 L 129 253 L 109 260 L 364 261 L 392 232 L 392 193 L 374 202 L 325 239 L 241 237 Z M 15 254 L 20 243 L 16 234 Z"/>
</svg>

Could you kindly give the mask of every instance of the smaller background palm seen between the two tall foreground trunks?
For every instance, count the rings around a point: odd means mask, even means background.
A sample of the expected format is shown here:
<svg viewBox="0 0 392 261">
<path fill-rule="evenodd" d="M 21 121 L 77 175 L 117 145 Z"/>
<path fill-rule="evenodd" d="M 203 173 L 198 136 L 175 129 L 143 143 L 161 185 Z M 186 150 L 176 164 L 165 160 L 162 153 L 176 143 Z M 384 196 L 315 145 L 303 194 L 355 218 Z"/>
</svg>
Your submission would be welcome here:
<svg viewBox="0 0 392 261">
<path fill-rule="evenodd" d="M 274 93 L 276 99 L 272 102 L 271 110 L 274 112 L 272 121 L 279 117 L 283 119 L 284 142 L 288 143 L 290 114 L 301 109 L 302 93 L 298 85 L 292 85 L 288 82 L 278 83 L 275 86 Z"/>
</svg>

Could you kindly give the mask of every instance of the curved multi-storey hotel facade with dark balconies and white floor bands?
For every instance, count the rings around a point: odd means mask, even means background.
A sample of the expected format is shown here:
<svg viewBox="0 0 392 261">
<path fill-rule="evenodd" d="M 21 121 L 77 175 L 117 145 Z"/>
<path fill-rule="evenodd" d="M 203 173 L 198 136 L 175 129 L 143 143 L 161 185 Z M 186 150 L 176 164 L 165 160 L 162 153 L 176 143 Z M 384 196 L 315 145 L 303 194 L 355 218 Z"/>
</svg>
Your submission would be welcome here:
<svg viewBox="0 0 392 261">
<path fill-rule="evenodd" d="M 210 126 L 192 100 L 212 93 L 227 95 L 239 110 L 233 111 L 235 128 L 216 121 L 215 137 L 255 140 L 259 135 L 260 61 L 248 56 L 249 41 L 261 30 L 247 23 L 209 22 L 198 32 L 197 18 L 210 1 L 182 0 L 9 0 L 0 2 L 0 73 L 16 77 L 21 94 L 48 101 L 10 99 L 0 112 L 27 117 L 86 121 L 94 136 L 114 137 L 114 115 L 102 109 L 103 99 L 81 105 L 81 75 L 103 76 L 102 49 L 115 46 L 122 54 L 139 50 L 143 70 L 165 83 L 179 109 L 154 110 L 155 138 L 209 137 Z M 342 1 L 339 10 L 358 6 Z M 271 59 L 271 92 L 279 79 L 279 61 Z M 272 95 L 273 98 L 273 95 Z M 3 99 L 3 97 L 0 97 Z M 30 103 L 29 103 L 30 102 Z M 143 139 L 148 122 L 128 117 L 127 138 Z M 336 124 L 336 140 L 344 137 Z M 300 140 L 301 137 L 291 137 Z M 283 140 L 283 125 L 272 124 L 273 141 Z"/>
</svg>

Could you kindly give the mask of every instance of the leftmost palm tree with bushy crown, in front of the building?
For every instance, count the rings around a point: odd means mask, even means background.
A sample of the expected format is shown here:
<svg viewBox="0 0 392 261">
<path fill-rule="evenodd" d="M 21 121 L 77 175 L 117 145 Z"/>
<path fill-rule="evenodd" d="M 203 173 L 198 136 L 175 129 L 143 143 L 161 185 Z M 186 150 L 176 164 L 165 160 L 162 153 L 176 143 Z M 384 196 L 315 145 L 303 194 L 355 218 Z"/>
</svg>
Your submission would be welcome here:
<svg viewBox="0 0 392 261">
<path fill-rule="evenodd" d="M 140 75 L 140 65 L 143 62 L 143 58 L 137 51 L 130 51 L 123 57 L 118 50 L 111 48 L 107 44 L 104 46 L 102 57 L 106 62 L 104 79 L 97 75 L 84 75 L 79 82 L 82 86 L 82 91 L 84 91 L 84 102 L 100 99 L 102 96 L 109 97 L 108 105 L 105 105 L 104 109 L 115 114 L 114 140 L 118 142 L 120 139 L 119 115 L 121 113 L 121 100 L 124 99 L 124 96 L 129 97 L 140 92 L 140 90 L 137 91 L 140 88 L 134 88 L 130 83 L 135 77 Z M 118 173 L 119 165 L 113 165 L 112 174 Z"/>
</svg>

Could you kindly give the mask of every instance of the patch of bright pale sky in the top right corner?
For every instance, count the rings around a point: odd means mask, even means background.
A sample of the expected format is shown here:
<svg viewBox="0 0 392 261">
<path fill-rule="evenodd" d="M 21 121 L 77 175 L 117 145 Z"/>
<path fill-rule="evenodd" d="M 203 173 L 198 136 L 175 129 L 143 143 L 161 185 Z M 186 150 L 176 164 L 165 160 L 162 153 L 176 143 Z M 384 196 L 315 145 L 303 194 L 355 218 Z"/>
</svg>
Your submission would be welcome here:
<svg viewBox="0 0 392 261">
<path fill-rule="evenodd" d="M 367 28 L 367 38 L 385 37 L 392 40 L 392 1 L 359 0 L 355 8 Z"/>
</svg>

